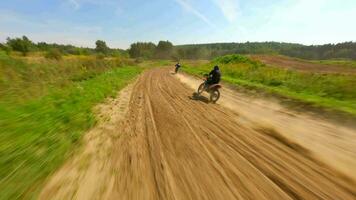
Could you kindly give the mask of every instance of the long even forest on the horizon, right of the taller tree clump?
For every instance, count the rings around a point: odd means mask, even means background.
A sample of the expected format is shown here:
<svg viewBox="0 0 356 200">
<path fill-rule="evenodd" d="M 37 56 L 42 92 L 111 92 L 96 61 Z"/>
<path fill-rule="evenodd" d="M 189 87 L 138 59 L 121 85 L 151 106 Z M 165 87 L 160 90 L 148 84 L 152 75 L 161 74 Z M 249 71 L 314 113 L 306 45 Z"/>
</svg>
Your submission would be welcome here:
<svg viewBox="0 0 356 200">
<path fill-rule="evenodd" d="M 211 59 L 228 54 L 280 54 L 290 57 L 325 60 L 356 60 L 356 43 L 344 42 L 325 45 L 301 45 L 280 42 L 216 43 L 175 46 L 178 57 Z"/>
</svg>

